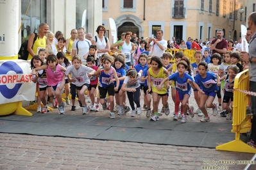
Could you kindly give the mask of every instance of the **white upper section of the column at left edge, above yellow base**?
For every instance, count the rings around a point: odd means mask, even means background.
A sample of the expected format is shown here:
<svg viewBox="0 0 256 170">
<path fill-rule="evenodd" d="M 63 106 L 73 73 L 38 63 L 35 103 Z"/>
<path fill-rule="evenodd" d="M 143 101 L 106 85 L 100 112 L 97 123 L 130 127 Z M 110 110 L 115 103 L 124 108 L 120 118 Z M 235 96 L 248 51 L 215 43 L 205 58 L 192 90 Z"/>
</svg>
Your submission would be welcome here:
<svg viewBox="0 0 256 170">
<path fill-rule="evenodd" d="M 13 57 L 18 54 L 19 1 L 0 0 L 0 56 Z"/>
</svg>

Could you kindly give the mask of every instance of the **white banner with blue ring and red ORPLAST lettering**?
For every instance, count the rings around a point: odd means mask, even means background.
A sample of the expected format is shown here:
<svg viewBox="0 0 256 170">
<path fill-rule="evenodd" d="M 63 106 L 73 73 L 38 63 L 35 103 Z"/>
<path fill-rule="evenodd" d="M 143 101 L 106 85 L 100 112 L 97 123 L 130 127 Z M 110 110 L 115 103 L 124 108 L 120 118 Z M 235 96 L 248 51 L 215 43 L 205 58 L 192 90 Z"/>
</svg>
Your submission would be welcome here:
<svg viewBox="0 0 256 170">
<path fill-rule="evenodd" d="M 0 104 L 35 100 L 30 61 L 0 60 Z"/>
</svg>

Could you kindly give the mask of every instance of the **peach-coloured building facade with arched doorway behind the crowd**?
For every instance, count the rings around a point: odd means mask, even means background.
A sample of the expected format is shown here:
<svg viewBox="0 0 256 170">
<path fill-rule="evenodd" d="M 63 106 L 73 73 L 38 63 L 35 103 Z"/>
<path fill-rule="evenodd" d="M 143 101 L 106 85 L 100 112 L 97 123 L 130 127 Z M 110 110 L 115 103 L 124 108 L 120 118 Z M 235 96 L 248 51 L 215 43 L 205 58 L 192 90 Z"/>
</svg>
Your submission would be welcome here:
<svg viewBox="0 0 256 170">
<path fill-rule="evenodd" d="M 225 38 L 237 40 L 241 24 L 246 25 L 248 0 L 103 0 L 103 24 L 108 27 L 112 17 L 118 36 L 126 31 L 137 33 L 139 38 L 164 31 L 164 39 L 206 40 L 222 29 Z M 252 2 L 251 2 L 252 3 Z M 251 6 L 250 6 L 251 8 Z M 243 9 L 243 10 L 240 10 Z"/>
</svg>

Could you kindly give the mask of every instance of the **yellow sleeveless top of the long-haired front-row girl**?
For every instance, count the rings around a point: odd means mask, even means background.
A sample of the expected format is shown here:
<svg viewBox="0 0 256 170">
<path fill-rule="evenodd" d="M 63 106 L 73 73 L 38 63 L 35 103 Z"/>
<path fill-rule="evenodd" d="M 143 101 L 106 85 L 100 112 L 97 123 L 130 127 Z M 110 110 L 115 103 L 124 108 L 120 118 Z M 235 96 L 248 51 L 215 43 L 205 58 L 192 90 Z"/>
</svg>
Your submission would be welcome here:
<svg viewBox="0 0 256 170">
<path fill-rule="evenodd" d="M 162 86 L 162 89 L 159 91 L 157 86 L 166 78 L 166 74 L 164 73 L 164 68 L 160 68 L 158 74 L 153 73 L 152 68 L 148 69 L 149 74 L 151 75 L 151 89 L 153 92 L 164 95 L 167 93 L 166 83 Z"/>
</svg>

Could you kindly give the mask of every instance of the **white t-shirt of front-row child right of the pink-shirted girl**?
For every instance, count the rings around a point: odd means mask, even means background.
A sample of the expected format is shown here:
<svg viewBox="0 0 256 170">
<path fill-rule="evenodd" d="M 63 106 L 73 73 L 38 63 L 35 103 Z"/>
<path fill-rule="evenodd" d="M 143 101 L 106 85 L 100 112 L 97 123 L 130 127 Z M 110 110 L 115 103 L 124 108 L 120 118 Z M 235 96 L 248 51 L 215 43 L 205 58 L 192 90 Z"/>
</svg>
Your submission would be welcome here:
<svg viewBox="0 0 256 170">
<path fill-rule="evenodd" d="M 65 75 L 69 75 L 69 73 L 72 73 L 72 77 L 76 79 L 76 86 L 81 87 L 83 84 L 90 84 L 90 79 L 87 75 L 87 73 L 92 72 L 92 68 L 85 66 L 85 65 L 80 65 L 80 68 L 76 70 L 74 65 L 69 66 L 67 70 L 65 71 Z"/>
</svg>

